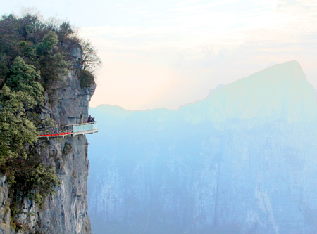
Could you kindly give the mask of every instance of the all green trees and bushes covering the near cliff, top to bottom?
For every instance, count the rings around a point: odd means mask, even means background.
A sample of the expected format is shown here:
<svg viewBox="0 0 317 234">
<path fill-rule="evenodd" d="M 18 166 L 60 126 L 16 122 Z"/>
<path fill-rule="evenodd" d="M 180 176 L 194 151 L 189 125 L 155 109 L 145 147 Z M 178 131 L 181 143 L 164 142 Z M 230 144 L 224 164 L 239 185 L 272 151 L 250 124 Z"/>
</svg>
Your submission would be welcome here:
<svg viewBox="0 0 317 234">
<path fill-rule="evenodd" d="M 8 180 L 11 213 L 25 198 L 40 203 L 59 184 L 54 168 L 39 154 L 39 129 L 54 122 L 41 115 L 50 101 L 45 93 L 70 71 L 82 88 L 94 84 L 92 68 L 100 60 L 73 32 L 68 22 L 54 25 L 35 15 L 0 20 L 0 171 Z M 83 51 L 81 59 L 71 56 L 74 48 Z"/>
</svg>

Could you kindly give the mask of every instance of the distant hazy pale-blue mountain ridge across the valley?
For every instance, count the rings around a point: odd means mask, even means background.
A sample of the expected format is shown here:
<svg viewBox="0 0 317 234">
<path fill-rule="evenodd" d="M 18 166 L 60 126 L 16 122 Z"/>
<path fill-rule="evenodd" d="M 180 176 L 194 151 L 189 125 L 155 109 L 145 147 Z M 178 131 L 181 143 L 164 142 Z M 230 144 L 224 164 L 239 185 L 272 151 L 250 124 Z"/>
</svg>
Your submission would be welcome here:
<svg viewBox="0 0 317 234">
<path fill-rule="evenodd" d="M 317 103 L 296 61 L 179 110 L 91 112 L 94 233 L 317 232 Z"/>
</svg>

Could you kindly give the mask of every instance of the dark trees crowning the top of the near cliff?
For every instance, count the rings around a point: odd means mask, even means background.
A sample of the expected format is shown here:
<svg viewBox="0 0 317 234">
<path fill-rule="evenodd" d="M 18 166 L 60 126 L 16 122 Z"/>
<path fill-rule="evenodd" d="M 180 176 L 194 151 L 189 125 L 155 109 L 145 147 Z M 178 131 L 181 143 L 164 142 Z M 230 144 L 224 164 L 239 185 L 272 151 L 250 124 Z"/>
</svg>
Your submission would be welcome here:
<svg viewBox="0 0 317 234">
<path fill-rule="evenodd" d="M 73 48 L 81 48 L 82 58 L 74 61 Z M 0 89 L 6 83 L 8 70 L 13 60 L 20 56 L 27 64 L 34 65 L 41 74 L 45 89 L 54 87 L 60 77 L 74 69 L 82 81 L 81 73 L 86 71 L 93 77 L 82 87 L 94 84 L 93 70 L 101 65 L 95 48 L 89 41 L 78 39 L 69 22 L 56 25 L 42 22 L 35 15 L 2 16 L 0 20 Z"/>
</svg>

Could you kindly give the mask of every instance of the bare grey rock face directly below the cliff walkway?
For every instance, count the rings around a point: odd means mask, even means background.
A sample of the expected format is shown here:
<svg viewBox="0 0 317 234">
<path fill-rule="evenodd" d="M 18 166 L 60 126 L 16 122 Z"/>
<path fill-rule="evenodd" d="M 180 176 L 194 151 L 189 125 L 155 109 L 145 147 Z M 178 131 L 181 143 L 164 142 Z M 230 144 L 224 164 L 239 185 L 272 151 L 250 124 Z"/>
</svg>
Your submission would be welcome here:
<svg viewBox="0 0 317 234">
<path fill-rule="evenodd" d="M 43 152 L 47 160 L 51 160 L 50 157 L 54 155 L 61 186 L 56 189 L 56 195 L 45 200 L 41 209 L 35 207 L 38 214 L 33 221 L 32 228 L 35 230 L 48 233 L 90 233 L 87 214 L 87 145 L 85 136 L 75 136 L 65 140 L 51 140 L 50 148 Z"/>
</svg>

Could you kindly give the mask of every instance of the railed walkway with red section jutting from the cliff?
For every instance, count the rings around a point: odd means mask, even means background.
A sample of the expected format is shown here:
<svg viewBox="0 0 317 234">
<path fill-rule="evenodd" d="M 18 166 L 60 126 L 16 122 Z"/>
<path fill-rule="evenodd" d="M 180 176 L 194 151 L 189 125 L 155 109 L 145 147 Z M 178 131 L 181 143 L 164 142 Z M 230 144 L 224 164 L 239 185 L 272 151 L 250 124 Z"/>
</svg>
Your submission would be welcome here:
<svg viewBox="0 0 317 234">
<path fill-rule="evenodd" d="M 83 134 L 94 134 L 98 132 L 97 122 L 85 123 L 85 124 L 70 124 L 65 126 L 54 126 L 52 128 L 46 128 L 39 134 L 39 138 L 51 138 L 65 136 L 76 136 Z"/>
</svg>

